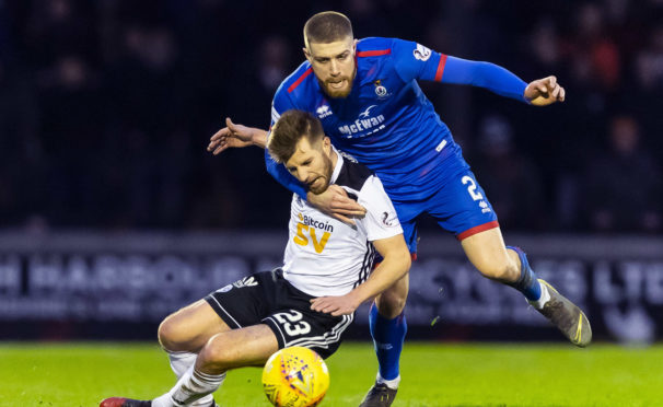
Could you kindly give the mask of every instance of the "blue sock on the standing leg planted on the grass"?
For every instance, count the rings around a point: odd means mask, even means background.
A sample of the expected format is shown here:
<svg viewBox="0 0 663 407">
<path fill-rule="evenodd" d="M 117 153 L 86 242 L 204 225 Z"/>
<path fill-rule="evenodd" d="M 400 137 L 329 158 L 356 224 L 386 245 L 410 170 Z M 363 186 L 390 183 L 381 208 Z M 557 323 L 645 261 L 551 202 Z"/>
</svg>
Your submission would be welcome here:
<svg viewBox="0 0 663 407">
<path fill-rule="evenodd" d="M 373 303 L 369 313 L 369 326 L 380 364 L 380 375 L 384 380 L 398 377 L 400 374 L 398 361 L 407 333 L 405 313 L 400 313 L 394 319 L 387 319 L 377 313 L 377 306 Z"/>
</svg>

